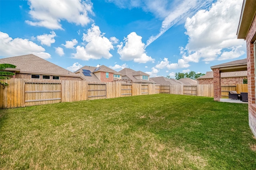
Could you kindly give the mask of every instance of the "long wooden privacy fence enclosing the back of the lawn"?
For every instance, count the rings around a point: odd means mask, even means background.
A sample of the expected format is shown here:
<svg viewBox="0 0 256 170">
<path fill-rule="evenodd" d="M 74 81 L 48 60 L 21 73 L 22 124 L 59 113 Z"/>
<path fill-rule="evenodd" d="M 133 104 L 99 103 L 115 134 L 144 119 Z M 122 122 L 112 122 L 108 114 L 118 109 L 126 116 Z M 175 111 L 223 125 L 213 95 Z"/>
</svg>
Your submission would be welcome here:
<svg viewBox="0 0 256 170">
<path fill-rule="evenodd" d="M 158 93 L 214 96 L 212 84 L 189 86 L 181 84 L 26 80 L 19 78 L 11 78 L 4 81 L 9 86 L 0 88 L 0 109 Z M 224 93 L 228 90 L 236 90 L 238 93 L 247 92 L 247 88 L 247 84 L 231 84 L 222 86 L 222 92 Z"/>
</svg>

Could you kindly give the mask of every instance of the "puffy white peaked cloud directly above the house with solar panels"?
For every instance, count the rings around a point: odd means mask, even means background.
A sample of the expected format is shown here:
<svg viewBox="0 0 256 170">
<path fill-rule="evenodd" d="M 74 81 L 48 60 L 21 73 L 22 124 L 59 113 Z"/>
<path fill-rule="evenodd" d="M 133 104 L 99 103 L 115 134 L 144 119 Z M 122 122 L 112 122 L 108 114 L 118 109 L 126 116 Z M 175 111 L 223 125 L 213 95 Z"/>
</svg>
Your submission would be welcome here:
<svg viewBox="0 0 256 170">
<path fill-rule="evenodd" d="M 83 41 L 86 42 L 85 47 L 78 45 L 76 53 L 72 54 L 72 58 L 88 61 L 90 59 L 110 59 L 112 54 L 110 50 L 114 49 L 112 43 L 101 34 L 100 28 L 92 24 L 92 27 L 87 30 L 87 34 L 83 33 Z"/>
</svg>

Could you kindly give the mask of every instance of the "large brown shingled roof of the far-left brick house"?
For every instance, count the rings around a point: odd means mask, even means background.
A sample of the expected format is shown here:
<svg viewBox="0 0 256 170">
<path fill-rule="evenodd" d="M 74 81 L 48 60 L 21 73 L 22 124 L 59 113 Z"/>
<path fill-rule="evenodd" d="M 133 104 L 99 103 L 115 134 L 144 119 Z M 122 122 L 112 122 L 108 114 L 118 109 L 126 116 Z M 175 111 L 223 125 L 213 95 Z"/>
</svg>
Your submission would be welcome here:
<svg viewBox="0 0 256 170">
<path fill-rule="evenodd" d="M 56 64 L 46 61 L 33 54 L 0 59 L 0 63 L 13 64 L 16 66 L 16 69 L 14 70 L 20 73 L 46 75 L 50 74 L 56 76 L 70 76 L 82 78 L 81 76 L 73 72 L 70 72 L 60 66 L 57 66 Z"/>
</svg>

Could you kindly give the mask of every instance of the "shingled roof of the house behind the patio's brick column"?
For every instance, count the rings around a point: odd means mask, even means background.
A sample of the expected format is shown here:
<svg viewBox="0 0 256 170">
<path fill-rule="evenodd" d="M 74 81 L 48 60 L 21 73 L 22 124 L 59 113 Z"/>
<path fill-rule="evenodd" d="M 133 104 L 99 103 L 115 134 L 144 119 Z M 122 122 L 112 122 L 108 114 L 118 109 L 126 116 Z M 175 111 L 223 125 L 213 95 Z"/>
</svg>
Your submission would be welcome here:
<svg viewBox="0 0 256 170">
<path fill-rule="evenodd" d="M 221 72 L 220 76 L 222 78 L 229 78 L 229 77 L 247 77 L 247 71 L 233 71 L 233 72 Z M 213 78 L 213 72 L 208 71 L 204 76 L 201 76 L 197 79 L 209 79 Z"/>
</svg>

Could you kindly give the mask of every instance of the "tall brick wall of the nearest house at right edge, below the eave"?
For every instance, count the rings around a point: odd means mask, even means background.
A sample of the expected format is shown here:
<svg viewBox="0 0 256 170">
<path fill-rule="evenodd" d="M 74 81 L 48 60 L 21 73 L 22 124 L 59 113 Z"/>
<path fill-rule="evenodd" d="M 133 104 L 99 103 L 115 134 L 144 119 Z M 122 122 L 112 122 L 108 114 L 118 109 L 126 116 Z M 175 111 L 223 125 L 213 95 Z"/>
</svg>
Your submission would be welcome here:
<svg viewBox="0 0 256 170">
<path fill-rule="evenodd" d="M 254 61 L 254 41 L 256 39 L 256 16 L 248 34 L 246 35 L 247 48 L 247 74 L 248 74 L 248 110 L 249 126 L 256 137 L 256 103 L 255 103 L 255 61 Z"/>
</svg>

